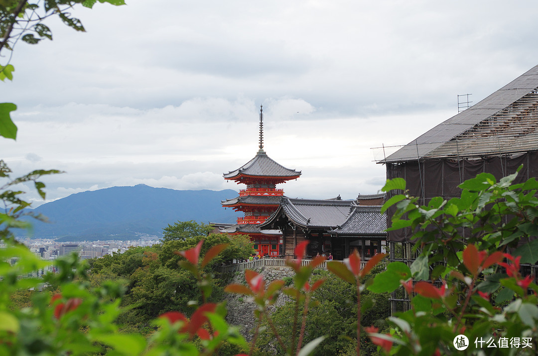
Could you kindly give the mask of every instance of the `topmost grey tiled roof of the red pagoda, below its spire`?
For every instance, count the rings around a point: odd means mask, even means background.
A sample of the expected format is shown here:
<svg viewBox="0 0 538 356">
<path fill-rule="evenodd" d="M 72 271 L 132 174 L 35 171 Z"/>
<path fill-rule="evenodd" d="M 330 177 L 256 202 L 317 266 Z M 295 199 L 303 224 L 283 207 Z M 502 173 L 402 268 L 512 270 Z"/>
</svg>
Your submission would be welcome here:
<svg viewBox="0 0 538 356">
<path fill-rule="evenodd" d="M 294 177 L 301 175 L 300 170 L 286 168 L 272 160 L 265 152 L 258 152 L 253 159 L 236 170 L 224 173 L 224 178 L 232 179 L 240 174 L 261 177 Z"/>
</svg>

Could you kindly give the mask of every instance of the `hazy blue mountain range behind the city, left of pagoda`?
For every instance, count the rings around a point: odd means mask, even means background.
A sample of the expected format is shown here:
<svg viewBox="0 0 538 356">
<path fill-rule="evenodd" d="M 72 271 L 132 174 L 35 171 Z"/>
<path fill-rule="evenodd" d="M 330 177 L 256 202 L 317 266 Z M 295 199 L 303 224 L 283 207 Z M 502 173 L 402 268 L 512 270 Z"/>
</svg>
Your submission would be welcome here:
<svg viewBox="0 0 538 356">
<path fill-rule="evenodd" d="M 231 189 L 174 190 L 145 184 L 84 191 L 34 209 L 49 222 L 32 219 L 31 236 L 60 241 L 128 240 L 161 237 L 162 229 L 178 220 L 233 223 L 239 213 L 225 210 L 220 203 L 235 196 L 237 192 Z"/>
</svg>

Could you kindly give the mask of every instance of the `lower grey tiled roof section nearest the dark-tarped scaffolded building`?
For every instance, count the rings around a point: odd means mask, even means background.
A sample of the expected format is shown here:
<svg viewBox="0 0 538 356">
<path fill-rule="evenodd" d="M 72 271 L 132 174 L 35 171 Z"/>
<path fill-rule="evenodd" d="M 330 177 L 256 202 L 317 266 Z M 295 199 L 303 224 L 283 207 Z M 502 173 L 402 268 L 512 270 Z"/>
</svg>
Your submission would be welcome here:
<svg viewBox="0 0 538 356">
<path fill-rule="evenodd" d="M 352 211 L 345 222 L 336 229 L 329 231 L 333 236 L 362 236 L 379 234 L 385 237 L 387 233 L 387 215 L 381 215 L 380 206 L 360 206 L 353 204 Z"/>
</svg>

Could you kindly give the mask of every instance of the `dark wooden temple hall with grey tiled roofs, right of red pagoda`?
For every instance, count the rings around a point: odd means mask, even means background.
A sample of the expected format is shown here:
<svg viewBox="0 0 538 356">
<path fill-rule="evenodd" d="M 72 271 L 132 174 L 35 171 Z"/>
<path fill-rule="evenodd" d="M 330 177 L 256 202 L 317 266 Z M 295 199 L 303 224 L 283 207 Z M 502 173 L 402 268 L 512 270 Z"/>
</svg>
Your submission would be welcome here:
<svg viewBox="0 0 538 356">
<path fill-rule="evenodd" d="M 307 239 L 307 258 L 330 253 L 335 260 L 342 260 L 355 249 L 363 259 L 369 258 L 385 252 L 387 217 L 380 213 L 384 201 L 384 194 L 356 200 L 282 197 L 278 209 L 259 229 L 282 231 L 285 256 L 294 257 L 295 246 Z"/>
</svg>

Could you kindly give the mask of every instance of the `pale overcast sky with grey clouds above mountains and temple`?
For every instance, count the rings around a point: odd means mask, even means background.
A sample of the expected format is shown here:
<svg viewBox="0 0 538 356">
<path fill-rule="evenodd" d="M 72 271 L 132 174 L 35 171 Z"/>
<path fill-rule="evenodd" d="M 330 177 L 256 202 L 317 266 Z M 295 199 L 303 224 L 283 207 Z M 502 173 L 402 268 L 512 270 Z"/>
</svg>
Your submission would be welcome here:
<svg viewBox="0 0 538 356">
<path fill-rule="evenodd" d="M 476 103 L 538 64 L 530 0 L 126 2 L 74 9 L 87 33 L 49 20 L 54 40 L 17 44 L 0 83 L 19 128 L 2 158 L 15 174 L 66 172 L 44 179 L 47 201 L 243 189 L 222 173 L 256 154 L 260 104 L 265 151 L 302 170 L 287 196 L 378 193 L 371 148 L 407 144 L 454 116 L 458 94 Z"/>
</svg>

